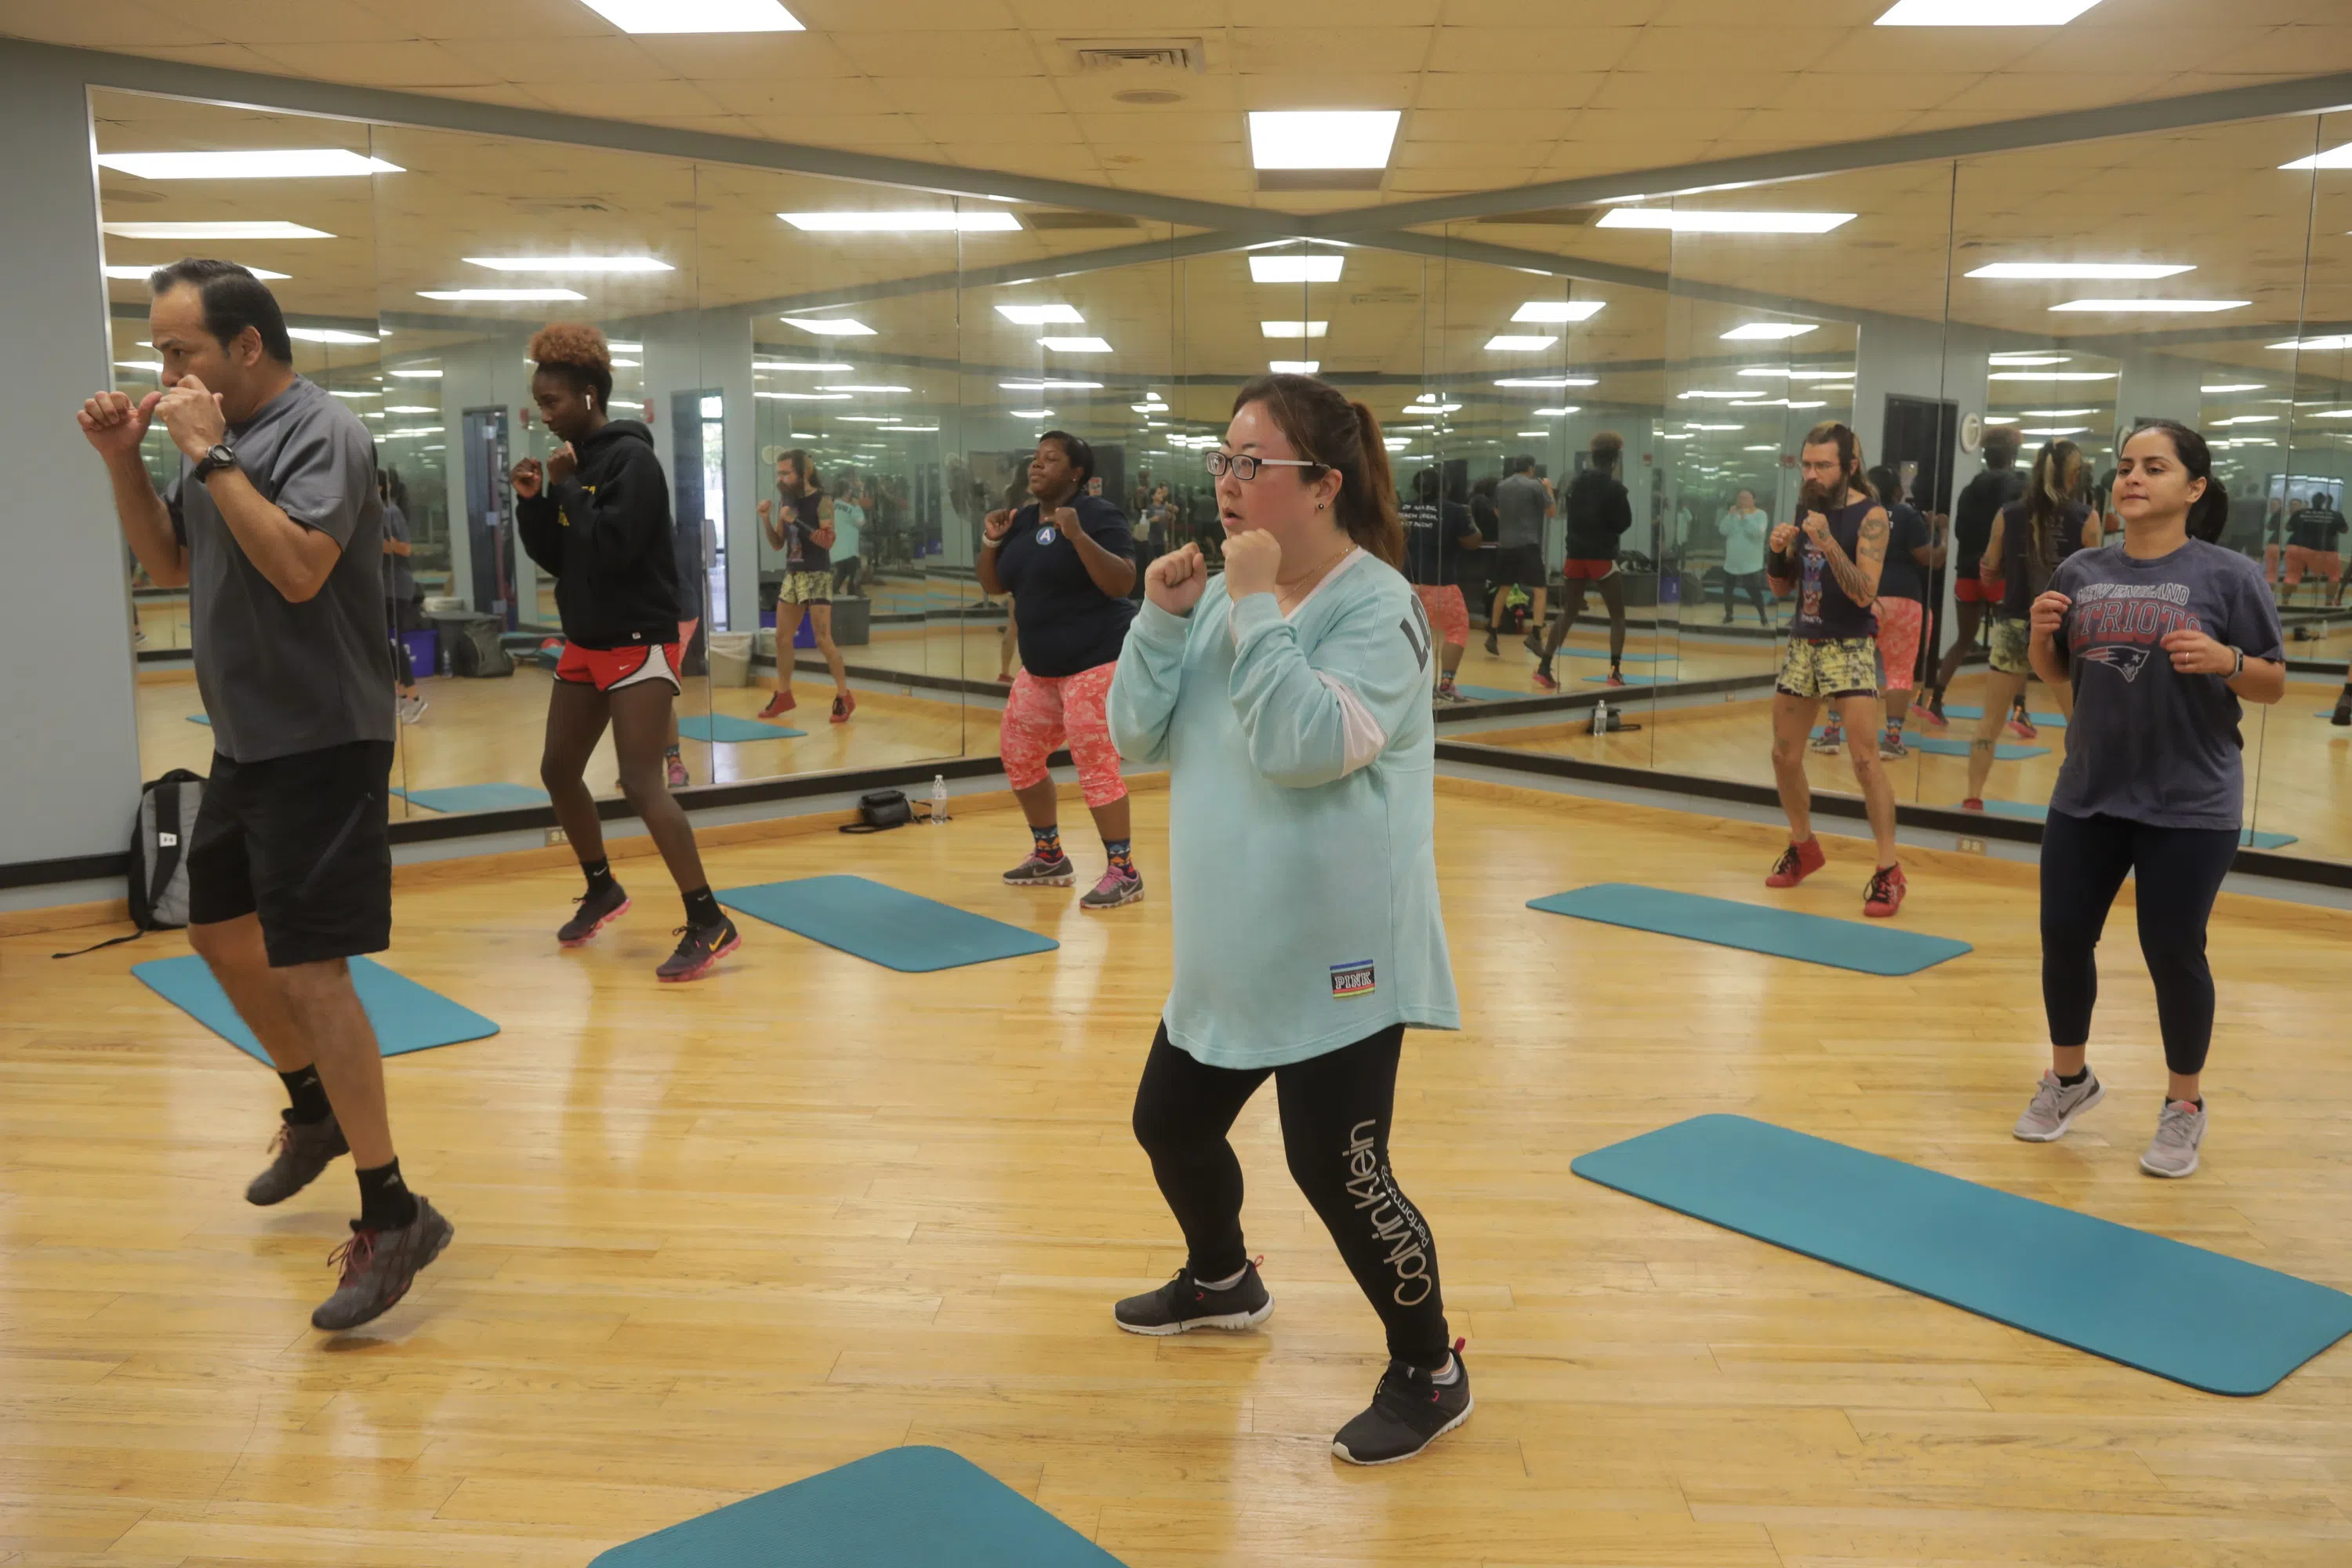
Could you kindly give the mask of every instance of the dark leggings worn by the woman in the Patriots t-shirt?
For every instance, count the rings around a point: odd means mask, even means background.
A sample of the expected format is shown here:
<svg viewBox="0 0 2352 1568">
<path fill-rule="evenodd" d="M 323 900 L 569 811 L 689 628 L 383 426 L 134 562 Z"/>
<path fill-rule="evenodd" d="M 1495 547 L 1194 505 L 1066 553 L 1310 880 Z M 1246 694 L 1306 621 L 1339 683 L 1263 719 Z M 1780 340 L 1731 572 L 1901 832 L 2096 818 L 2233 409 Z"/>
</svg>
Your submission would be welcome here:
<svg viewBox="0 0 2352 1568">
<path fill-rule="evenodd" d="M 2042 1009 L 2053 1046 L 2091 1039 L 2098 933 L 2131 872 L 2140 954 L 2157 983 L 2164 1065 L 2204 1072 L 2213 1044 L 2213 971 L 2204 957 L 2213 896 L 2237 858 L 2234 827 L 2150 827 L 2122 816 L 2051 811 L 2042 827 Z"/>
</svg>

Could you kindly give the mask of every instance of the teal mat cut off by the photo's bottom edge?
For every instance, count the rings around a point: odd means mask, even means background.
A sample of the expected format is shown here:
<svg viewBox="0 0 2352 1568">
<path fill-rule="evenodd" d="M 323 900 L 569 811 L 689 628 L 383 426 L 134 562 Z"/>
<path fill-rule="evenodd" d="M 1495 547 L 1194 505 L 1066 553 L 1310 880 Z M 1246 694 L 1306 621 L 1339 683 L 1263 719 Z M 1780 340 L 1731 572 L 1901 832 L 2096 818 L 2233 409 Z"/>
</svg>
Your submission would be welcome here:
<svg viewBox="0 0 2352 1568">
<path fill-rule="evenodd" d="M 1122 1568 L 946 1448 L 884 1448 L 729 1502 L 588 1568 Z"/>
</svg>

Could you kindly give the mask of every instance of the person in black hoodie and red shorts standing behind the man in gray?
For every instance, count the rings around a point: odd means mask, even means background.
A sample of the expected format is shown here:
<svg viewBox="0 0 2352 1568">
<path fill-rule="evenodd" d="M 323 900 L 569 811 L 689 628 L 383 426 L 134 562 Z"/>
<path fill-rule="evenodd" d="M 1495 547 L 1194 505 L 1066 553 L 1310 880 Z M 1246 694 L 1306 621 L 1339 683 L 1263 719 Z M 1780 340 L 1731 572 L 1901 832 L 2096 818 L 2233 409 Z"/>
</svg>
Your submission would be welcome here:
<svg viewBox="0 0 2352 1568">
<path fill-rule="evenodd" d="M 687 924 L 677 952 L 654 973 L 694 980 L 741 945 L 710 896 L 694 827 L 670 797 L 663 752 L 677 701 L 682 656 L 677 552 L 670 482 L 654 435 L 635 418 L 612 418 L 612 350 L 604 334 L 557 322 L 532 339 L 532 402 L 564 444 L 515 463 L 515 520 L 522 548 L 555 576 L 564 654 L 548 693 L 548 743 L 539 778 L 555 802 L 588 891 L 555 938 L 576 947 L 628 910 L 628 893 L 604 860 L 604 830 L 588 792 L 588 755 L 612 724 L 621 792 L 661 849 Z"/>
</svg>

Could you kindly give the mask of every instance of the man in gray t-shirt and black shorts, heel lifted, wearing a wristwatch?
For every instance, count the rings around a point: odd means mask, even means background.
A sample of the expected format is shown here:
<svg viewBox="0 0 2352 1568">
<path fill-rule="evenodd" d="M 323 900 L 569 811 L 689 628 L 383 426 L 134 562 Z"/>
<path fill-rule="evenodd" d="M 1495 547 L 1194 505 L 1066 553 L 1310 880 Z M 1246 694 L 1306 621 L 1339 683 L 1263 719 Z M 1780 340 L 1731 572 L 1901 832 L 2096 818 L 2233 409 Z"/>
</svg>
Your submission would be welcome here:
<svg viewBox="0 0 2352 1568">
<path fill-rule="evenodd" d="M 214 759 L 188 842 L 188 945 L 287 1091 L 275 1159 L 245 1190 L 282 1204 L 341 1154 L 360 1178 L 341 1281 L 313 1328 L 390 1309 L 454 1234 L 400 1180 L 376 1032 L 348 959 L 393 929 L 386 783 L 383 534 L 367 430 L 294 374 L 278 301 L 228 261 L 151 277 L 162 393 L 99 393 L 82 435 L 106 458 L 122 534 L 158 585 L 188 588 Z M 148 423 L 181 451 L 158 496 Z"/>
</svg>

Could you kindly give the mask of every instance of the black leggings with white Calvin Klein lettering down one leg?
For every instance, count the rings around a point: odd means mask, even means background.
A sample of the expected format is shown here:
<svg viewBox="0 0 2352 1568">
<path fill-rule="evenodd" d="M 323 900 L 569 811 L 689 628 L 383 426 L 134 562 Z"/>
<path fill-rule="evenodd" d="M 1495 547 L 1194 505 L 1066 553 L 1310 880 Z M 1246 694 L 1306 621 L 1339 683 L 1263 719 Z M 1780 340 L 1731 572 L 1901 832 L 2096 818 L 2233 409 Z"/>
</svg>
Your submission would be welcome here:
<svg viewBox="0 0 2352 1568">
<path fill-rule="evenodd" d="M 1287 1067 L 1204 1067 L 1162 1023 L 1136 1086 L 1136 1143 L 1190 1248 L 1192 1279 L 1225 1279 L 1242 1246 L 1242 1161 L 1225 1133 L 1268 1077 L 1282 1095 L 1282 1152 L 1338 1255 L 1388 1328 L 1388 1354 L 1446 1363 L 1437 1246 L 1388 1168 L 1404 1025 Z"/>
</svg>

